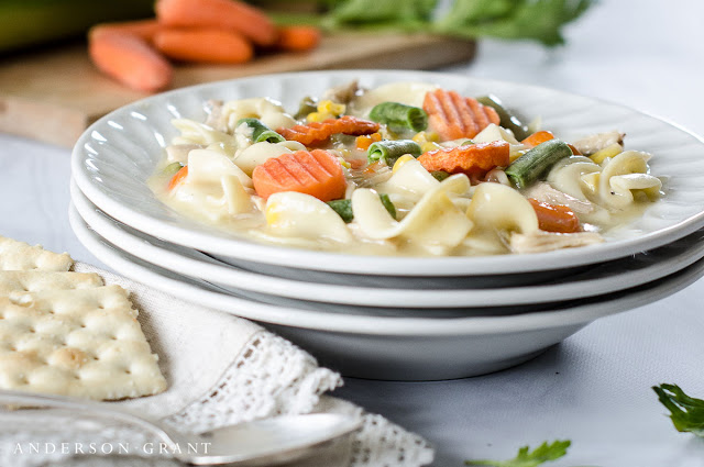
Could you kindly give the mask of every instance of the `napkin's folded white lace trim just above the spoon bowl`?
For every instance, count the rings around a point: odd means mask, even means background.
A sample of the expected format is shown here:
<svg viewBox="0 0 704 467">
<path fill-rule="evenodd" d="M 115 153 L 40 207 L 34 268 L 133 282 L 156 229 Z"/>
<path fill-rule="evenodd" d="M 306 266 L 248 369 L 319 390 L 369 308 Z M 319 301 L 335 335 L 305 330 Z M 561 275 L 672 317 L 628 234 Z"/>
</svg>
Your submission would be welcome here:
<svg viewBox="0 0 704 467">
<path fill-rule="evenodd" d="M 163 421 L 202 433 L 213 427 L 276 414 L 310 412 L 320 394 L 342 385 L 290 342 L 256 333 L 216 387 Z"/>
</svg>

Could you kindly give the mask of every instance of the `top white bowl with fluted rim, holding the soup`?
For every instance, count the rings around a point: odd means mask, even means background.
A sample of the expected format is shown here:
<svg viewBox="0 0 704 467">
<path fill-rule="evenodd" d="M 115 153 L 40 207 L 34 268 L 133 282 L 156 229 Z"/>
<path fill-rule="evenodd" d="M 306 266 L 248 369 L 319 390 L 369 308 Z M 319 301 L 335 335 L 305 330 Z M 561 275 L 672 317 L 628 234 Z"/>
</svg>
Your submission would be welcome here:
<svg viewBox="0 0 704 467">
<path fill-rule="evenodd" d="M 487 257 L 375 257 L 271 246 L 218 232 L 188 220 L 158 201 L 146 185 L 175 135 L 170 120 L 204 118 L 208 99 L 270 96 L 294 109 L 307 94 L 359 79 L 375 87 L 393 81 L 428 81 L 476 96 L 495 93 L 564 140 L 618 129 L 628 147 L 652 153 L 652 173 L 669 176 L 669 192 L 642 218 L 608 242 L 535 255 Z M 73 175 L 84 193 L 110 216 L 165 241 L 209 252 L 234 264 L 285 266 L 343 274 L 464 276 L 521 274 L 595 264 L 652 249 L 704 226 L 704 143 L 697 136 L 631 109 L 561 91 L 422 71 L 312 71 L 222 81 L 157 94 L 119 109 L 92 124 L 73 153 Z M 264 270 L 270 273 L 271 269 Z M 286 273 L 292 274 L 292 273 Z M 294 273 L 295 274 L 295 273 Z M 324 277 L 324 275 L 321 275 Z"/>
</svg>

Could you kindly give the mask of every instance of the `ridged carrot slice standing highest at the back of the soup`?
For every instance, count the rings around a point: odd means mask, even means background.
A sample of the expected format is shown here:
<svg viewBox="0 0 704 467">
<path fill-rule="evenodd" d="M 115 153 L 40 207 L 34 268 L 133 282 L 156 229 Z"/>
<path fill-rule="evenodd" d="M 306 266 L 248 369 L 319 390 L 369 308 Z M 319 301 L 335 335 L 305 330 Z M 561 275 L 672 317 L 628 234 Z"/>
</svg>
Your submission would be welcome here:
<svg viewBox="0 0 704 467">
<path fill-rule="evenodd" d="M 426 92 L 422 109 L 428 113 L 429 126 L 444 140 L 474 137 L 491 123 L 501 122 L 493 108 L 444 89 Z"/>
</svg>

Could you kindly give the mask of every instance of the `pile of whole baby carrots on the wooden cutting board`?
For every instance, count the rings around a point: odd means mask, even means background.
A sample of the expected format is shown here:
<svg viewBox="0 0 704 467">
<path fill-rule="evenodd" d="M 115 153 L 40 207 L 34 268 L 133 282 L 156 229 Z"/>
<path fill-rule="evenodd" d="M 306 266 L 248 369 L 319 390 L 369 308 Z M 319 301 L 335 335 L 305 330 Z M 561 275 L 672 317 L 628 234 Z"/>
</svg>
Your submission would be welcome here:
<svg viewBox="0 0 704 467">
<path fill-rule="evenodd" d="M 156 0 L 156 18 L 103 23 L 88 33 L 96 67 L 140 91 L 166 88 L 169 59 L 242 64 L 256 49 L 302 52 L 318 46 L 314 26 L 278 27 L 260 9 L 239 0 Z"/>
</svg>

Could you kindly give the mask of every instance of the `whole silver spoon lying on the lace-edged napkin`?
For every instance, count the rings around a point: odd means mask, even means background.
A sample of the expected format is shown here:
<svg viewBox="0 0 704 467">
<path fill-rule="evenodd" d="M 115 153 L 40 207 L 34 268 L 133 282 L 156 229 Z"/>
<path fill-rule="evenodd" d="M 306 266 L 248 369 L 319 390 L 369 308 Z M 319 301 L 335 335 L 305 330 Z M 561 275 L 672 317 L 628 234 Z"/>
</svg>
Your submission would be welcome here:
<svg viewBox="0 0 704 467">
<path fill-rule="evenodd" d="M 59 396 L 0 391 L 0 404 L 33 409 L 64 409 L 72 413 L 80 412 L 90 416 L 129 423 L 154 434 L 155 438 L 167 446 L 168 453 L 173 453 L 175 458 L 193 465 L 284 464 L 306 457 L 320 445 L 352 433 L 361 426 L 361 420 L 352 416 L 315 413 L 244 422 L 193 435 L 176 432 L 123 409 L 107 408 L 105 403 Z M 189 443 L 191 446 L 200 447 L 188 449 L 186 447 Z"/>
</svg>

